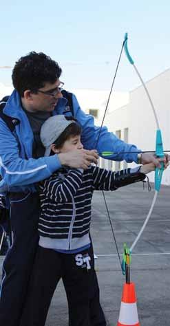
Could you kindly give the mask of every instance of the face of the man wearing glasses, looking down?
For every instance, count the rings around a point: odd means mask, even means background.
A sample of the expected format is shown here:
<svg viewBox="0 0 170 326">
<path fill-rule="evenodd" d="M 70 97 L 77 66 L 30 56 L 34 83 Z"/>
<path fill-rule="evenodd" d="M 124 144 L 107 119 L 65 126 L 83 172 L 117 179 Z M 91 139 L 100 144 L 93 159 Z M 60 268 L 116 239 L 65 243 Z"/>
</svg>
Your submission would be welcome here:
<svg viewBox="0 0 170 326">
<path fill-rule="evenodd" d="M 60 87 L 61 81 L 58 79 L 53 84 L 45 83 L 44 87 L 41 87 L 36 94 L 31 93 L 30 111 L 53 111 L 59 98 L 63 97 Z"/>
</svg>

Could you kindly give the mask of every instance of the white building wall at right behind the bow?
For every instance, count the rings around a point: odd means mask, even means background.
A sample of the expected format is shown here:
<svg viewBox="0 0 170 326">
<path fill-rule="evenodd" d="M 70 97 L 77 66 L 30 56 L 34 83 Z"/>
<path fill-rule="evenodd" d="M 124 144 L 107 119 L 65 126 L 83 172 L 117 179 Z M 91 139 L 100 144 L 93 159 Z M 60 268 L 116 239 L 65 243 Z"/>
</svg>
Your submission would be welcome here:
<svg viewBox="0 0 170 326">
<path fill-rule="evenodd" d="M 160 129 L 162 130 L 162 140 L 164 150 L 170 149 L 170 110 L 169 110 L 169 87 L 170 87 L 170 69 L 167 69 L 162 74 L 156 76 L 146 83 L 156 107 Z M 136 144 L 143 151 L 154 151 L 156 142 L 156 122 L 153 116 L 151 105 L 145 94 L 143 87 L 134 89 L 129 94 L 129 103 L 124 107 L 120 107 L 111 113 L 108 113 L 105 118 L 105 124 L 109 127 L 109 131 L 116 133 L 121 130 L 124 133 L 125 128 L 128 128 L 128 142 Z M 122 138 L 124 140 L 124 136 Z M 134 164 L 129 164 L 134 165 Z M 107 166 L 107 164 L 106 164 Z M 113 166 L 114 169 L 114 166 Z M 153 181 L 153 173 L 150 173 L 149 178 Z M 164 171 L 162 177 L 163 184 L 170 184 L 170 169 Z"/>
</svg>

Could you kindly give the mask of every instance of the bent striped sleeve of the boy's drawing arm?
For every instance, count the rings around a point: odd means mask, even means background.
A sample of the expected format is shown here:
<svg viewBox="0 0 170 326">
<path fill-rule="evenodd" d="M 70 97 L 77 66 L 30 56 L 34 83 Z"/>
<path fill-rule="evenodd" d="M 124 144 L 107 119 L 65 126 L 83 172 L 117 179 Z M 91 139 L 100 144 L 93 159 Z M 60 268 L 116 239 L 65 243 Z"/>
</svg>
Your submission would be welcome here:
<svg viewBox="0 0 170 326">
<path fill-rule="evenodd" d="M 46 198 L 53 202 L 72 202 L 81 183 L 81 171 L 70 169 L 64 180 L 59 176 L 52 176 L 45 180 L 43 184 L 40 184 L 40 191 L 41 193 L 43 192 Z"/>
</svg>

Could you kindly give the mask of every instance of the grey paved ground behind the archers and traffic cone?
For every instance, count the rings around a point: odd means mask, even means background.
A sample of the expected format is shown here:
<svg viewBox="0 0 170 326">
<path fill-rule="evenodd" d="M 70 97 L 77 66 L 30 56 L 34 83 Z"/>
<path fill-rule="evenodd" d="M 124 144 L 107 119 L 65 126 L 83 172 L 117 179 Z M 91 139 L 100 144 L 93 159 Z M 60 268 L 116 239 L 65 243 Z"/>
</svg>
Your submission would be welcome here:
<svg viewBox="0 0 170 326">
<path fill-rule="evenodd" d="M 149 224 L 134 249 L 131 281 L 136 283 L 138 314 L 141 326 L 170 325 L 170 196 L 162 186 Z M 153 191 L 142 190 L 141 184 L 107 193 L 107 204 L 120 254 L 123 243 L 130 246 L 144 221 Z M 111 235 L 103 195 L 95 193 L 92 216 L 96 271 L 100 283 L 101 303 L 108 325 L 116 326 L 124 276 Z M 2 259 L 1 259 L 2 261 Z M 59 284 L 45 326 L 67 326 L 67 303 L 62 283 Z"/>
</svg>

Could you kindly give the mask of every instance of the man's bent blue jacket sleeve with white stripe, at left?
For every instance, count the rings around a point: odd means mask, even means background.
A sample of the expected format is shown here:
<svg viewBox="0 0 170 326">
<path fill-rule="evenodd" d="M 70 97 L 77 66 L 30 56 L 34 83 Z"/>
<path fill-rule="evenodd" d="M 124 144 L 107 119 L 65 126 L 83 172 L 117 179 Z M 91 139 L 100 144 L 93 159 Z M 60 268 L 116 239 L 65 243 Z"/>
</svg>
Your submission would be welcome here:
<svg viewBox="0 0 170 326">
<path fill-rule="evenodd" d="M 19 157 L 19 144 L 6 123 L 0 119 L 0 188 L 9 191 L 12 186 L 34 184 L 61 168 L 57 155 L 30 158 Z"/>
</svg>

